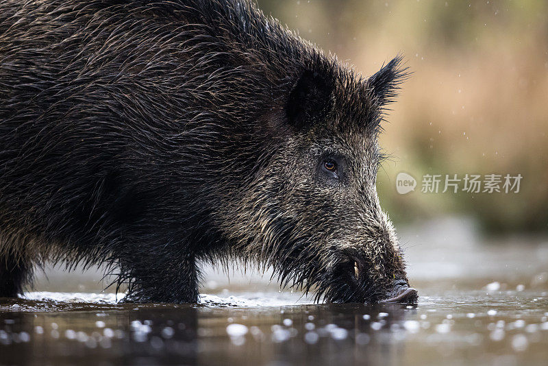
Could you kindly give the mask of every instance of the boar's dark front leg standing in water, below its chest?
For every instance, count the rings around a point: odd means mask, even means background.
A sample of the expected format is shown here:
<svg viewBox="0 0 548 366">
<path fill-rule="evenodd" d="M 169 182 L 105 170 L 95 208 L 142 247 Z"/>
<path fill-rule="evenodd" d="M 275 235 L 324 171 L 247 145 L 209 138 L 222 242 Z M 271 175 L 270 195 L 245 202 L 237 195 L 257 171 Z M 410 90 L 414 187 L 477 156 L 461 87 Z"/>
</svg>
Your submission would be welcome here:
<svg viewBox="0 0 548 366">
<path fill-rule="evenodd" d="M 128 284 L 123 302 L 198 301 L 199 270 L 195 257 L 168 249 L 155 247 L 121 256 L 119 284 Z"/>
</svg>

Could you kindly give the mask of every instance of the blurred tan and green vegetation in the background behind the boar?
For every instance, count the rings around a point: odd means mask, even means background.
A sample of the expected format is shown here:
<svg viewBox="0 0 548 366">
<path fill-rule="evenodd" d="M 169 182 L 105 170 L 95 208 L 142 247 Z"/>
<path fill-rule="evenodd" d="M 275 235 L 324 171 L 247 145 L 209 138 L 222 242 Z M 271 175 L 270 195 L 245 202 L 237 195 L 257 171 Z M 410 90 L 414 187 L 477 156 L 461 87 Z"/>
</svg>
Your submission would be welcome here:
<svg viewBox="0 0 548 366">
<path fill-rule="evenodd" d="M 488 232 L 548 230 L 548 2 L 259 0 L 303 38 L 371 75 L 403 53 L 378 189 L 397 223 L 476 217 Z M 399 195 L 396 175 L 414 192 Z M 521 173 L 519 193 L 421 193 L 425 174 Z"/>
</svg>

